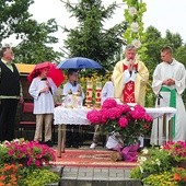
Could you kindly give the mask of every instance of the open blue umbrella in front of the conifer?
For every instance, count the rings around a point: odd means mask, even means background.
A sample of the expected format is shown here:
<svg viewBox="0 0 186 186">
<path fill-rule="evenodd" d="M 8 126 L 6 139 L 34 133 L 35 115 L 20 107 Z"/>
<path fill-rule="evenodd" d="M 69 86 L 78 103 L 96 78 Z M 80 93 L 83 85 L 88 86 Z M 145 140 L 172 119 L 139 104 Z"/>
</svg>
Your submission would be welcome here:
<svg viewBox="0 0 186 186">
<path fill-rule="evenodd" d="M 61 61 L 58 66 L 58 69 L 102 69 L 103 67 L 89 58 L 75 57 L 69 58 Z"/>
</svg>

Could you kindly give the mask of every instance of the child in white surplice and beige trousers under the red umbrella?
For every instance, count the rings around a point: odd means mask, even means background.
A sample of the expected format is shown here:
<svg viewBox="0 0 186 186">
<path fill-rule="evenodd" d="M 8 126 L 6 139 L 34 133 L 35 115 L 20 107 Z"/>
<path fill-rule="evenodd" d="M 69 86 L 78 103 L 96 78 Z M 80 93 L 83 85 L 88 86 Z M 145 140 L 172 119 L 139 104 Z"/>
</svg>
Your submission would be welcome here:
<svg viewBox="0 0 186 186">
<path fill-rule="evenodd" d="M 57 86 L 53 79 L 47 77 L 48 70 L 48 67 L 38 70 L 38 75 L 33 79 L 28 92 L 34 97 L 34 114 L 36 115 L 34 141 L 51 146 L 51 123 L 55 108 L 53 95 Z M 42 139 L 44 121 L 45 139 Z"/>
</svg>

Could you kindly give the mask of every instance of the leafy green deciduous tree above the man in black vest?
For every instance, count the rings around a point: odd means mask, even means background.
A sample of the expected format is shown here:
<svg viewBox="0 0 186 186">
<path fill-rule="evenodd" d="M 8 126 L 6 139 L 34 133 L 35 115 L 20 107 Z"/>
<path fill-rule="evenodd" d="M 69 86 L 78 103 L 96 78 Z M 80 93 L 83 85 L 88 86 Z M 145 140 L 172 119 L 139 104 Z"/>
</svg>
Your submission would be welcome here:
<svg viewBox="0 0 186 186">
<path fill-rule="evenodd" d="M 15 62 L 37 63 L 55 60 L 62 56 L 47 44 L 58 39 L 50 34 L 58 31 L 54 19 L 47 23 L 37 23 L 32 19 L 28 8 L 34 0 L 0 0 L 0 42 L 12 34 L 22 42 L 14 48 Z"/>
</svg>

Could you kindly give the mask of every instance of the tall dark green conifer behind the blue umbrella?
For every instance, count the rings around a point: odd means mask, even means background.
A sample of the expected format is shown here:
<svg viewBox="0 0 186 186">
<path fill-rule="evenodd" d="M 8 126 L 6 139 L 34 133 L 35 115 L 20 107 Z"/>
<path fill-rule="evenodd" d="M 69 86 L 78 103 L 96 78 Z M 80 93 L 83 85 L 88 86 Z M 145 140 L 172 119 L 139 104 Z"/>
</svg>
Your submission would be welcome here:
<svg viewBox="0 0 186 186">
<path fill-rule="evenodd" d="M 112 18 L 116 3 L 107 8 L 102 5 L 101 0 L 81 0 L 75 5 L 63 3 L 71 16 L 78 20 L 75 28 L 65 27 L 65 32 L 68 33 L 65 40 L 68 57 L 88 57 L 98 61 L 107 70 L 113 69 L 116 56 L 120 54 L 124 44 L 121 35 L 126 30 L 124 22 L 112 28 L 104 28 L 104 22 Z"/>
</svg>

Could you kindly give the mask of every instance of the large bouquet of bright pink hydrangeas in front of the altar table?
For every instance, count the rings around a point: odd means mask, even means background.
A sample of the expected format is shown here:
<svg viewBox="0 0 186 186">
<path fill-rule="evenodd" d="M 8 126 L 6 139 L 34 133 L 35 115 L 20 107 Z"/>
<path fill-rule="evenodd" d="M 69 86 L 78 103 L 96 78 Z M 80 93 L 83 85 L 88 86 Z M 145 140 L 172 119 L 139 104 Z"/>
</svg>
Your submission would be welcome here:
<svg viewBox="0 0 186 186">
<path fill-rule="evenodd" d="M 133 143 L 139 136 L 149 135 L 152 126 L 152 118 L 144 107 L 136 105 L 130 108 L 113 98 L 106 100 L 100 111 L 89 112 L 86 117 L 91 124 L 101 125 L 105 133 L 118 131 L 127 144 Z"/>
</svg>

